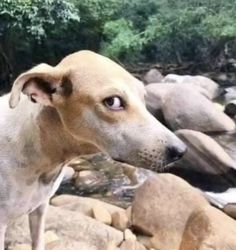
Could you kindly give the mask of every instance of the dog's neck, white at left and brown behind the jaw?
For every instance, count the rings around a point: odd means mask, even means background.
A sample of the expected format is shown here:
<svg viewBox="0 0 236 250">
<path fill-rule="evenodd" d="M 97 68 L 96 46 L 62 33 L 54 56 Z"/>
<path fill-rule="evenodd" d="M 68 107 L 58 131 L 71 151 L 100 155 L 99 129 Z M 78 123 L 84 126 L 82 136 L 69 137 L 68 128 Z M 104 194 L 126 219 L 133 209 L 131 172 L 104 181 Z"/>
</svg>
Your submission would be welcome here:
<svg viewBox="0 0 236 250">
<path fill-rule="evenodd" d="M 31 103 L 26 97 L 16 109 L 8 108 L 8 95 L 0 100 L 0 158 L 11 155 L 16 162 L 47 172 L 75 156 L 96 152 L 95 147 L 76 141 L 63 127 L 56 109 Z M 35 172 L 35 171 L 33 171 Z"/>
</svg>

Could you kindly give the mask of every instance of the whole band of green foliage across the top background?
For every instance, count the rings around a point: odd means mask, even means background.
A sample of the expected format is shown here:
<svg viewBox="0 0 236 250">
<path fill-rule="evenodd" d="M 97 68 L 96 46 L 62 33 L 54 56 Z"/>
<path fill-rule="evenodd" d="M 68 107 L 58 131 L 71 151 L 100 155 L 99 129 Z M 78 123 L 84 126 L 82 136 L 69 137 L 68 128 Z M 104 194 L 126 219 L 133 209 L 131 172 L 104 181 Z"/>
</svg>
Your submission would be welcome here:
<svg viewBox="0 0 236 250">
<path fill-rule="evenodd" d="M 16 75 L 91 49 L 123 63 L 217 64 L 236 54 L 235 20 L 235 0 L 1 0 L 0 62 Z"/>
</svg>

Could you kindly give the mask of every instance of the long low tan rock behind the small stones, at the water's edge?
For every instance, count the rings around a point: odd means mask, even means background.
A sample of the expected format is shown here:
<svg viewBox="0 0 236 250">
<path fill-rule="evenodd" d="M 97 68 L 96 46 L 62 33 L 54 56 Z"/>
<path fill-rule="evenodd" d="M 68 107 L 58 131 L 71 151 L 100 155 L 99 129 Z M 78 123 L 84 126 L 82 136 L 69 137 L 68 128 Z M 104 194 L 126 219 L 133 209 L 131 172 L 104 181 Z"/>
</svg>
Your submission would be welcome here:
<svg viewBox="0 0 236 250">
<path fill-rule="evenodd" d="M 123 208 L 99 201 L 97 199 L 66 194 L 54 197 L 51 200 L 51 205 L 59 206 L 70 211 L 77 211 L 90 217 L 92 217 L 92 210 L 96 206 L 104 207 L 110 214 L 125 211 Z"/>
</svg>

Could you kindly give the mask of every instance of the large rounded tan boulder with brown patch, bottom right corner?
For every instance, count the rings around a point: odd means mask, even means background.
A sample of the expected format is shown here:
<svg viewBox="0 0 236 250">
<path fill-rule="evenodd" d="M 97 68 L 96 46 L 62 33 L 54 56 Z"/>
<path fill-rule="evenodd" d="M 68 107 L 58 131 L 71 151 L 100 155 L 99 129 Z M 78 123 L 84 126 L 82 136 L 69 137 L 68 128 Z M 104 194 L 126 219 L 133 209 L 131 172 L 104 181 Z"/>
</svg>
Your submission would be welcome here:
<svg viewBox="0 0 236 250">
<path fill-rule="evenodd" d="M 170 174 L 159 174 L 139 188 L 132 223 L 150 236 L 142 241 L 148 248 L 236 249 L 236 222 L 211 207 L 200 191 Z"/>
</svg>

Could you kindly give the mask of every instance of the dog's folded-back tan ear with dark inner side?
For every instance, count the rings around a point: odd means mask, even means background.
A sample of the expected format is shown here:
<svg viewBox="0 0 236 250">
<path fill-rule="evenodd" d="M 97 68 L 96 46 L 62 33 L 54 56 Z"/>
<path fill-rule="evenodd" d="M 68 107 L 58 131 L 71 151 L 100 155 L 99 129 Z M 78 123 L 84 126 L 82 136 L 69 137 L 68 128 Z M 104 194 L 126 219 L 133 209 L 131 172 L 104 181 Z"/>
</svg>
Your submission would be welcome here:
<svg viewBox="0 0 236 250">
<path fill-rule="evenodd" d="M 39 64 L 21 74 L 13 83 L 9 105 L 15 108 L 20 101 L 21 92 L 31 101 L 53 106 L 53 95 L 68 95 L 72 91 L 71 83 L 61 71 L 48 64 Z"/>
</svg>

